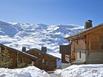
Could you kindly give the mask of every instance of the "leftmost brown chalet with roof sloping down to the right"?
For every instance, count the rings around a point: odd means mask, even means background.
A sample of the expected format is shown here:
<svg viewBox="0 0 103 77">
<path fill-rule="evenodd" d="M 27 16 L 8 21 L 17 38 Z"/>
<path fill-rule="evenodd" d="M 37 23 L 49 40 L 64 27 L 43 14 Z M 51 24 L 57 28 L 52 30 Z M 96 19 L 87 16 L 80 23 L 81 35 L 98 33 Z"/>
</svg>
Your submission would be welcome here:
<svg viewBox="0 0 103 77">
<path fill-rule="evenodd" d="M 0 67 L 24 67 L 36 59 L 33 55 L 0 44 Z"/>
</svg>

